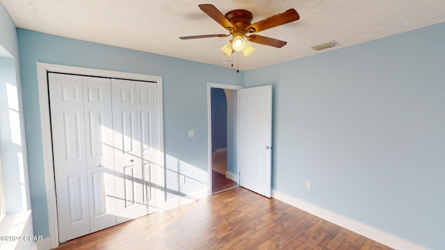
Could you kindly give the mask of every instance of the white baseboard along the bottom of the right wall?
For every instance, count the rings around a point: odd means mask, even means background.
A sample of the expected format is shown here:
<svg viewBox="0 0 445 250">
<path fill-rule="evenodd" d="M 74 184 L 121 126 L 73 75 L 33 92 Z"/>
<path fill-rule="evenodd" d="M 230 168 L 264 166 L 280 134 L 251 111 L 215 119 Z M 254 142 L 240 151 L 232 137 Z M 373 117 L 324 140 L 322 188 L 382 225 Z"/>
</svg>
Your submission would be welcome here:
<svg viewBox="0 0 445 250">
<path fill-rule="evenodd" d="M 318 207 L 307 201 L 302 201 L 300 199 L 291 197 L 289 194 L 272 190 L 272 197 L 288 203 L 296 208 L 300 208 L 301 210 L 305 210 L 307 213 L 321 217 L 328 222 L 332 222 L 350 231 L 363 235 L 366 238 L 370 238 L 371 240 L 385 244 L 388 247 L 392 247 L 394 249 L 426 250 L 426 248 L 423 248 L 417 244 L 408 242 L 407 240 L 398 238 L 384 231 L 380 231 L 379 229 L 373 228 L 366 224 L 362 224 L 361 222 L 357 222 L 348 217 L 344 217 L 343 215 L 339 215 L 330 210 L 326 210 L 325 208 Z"/>
</svg>

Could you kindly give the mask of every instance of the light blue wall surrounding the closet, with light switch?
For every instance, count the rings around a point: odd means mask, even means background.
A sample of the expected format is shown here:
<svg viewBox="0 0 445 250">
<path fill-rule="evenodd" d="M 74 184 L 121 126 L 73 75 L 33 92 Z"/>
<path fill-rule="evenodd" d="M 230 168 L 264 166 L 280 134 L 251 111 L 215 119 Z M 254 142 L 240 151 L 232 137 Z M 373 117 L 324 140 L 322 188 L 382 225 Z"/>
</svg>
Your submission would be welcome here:
<svg viewBox="0 0 445 250">
<path fill-rule="evenodd" d="M 162 76 L 167 199 L 208 188 L 207 83 L 242 85 L 243 72 L 21 28 L 17 35 L 36 235 L 49 235 L 36 62 Z M 190 177 L 185 184 L 177 172 Z"/>
</svg>

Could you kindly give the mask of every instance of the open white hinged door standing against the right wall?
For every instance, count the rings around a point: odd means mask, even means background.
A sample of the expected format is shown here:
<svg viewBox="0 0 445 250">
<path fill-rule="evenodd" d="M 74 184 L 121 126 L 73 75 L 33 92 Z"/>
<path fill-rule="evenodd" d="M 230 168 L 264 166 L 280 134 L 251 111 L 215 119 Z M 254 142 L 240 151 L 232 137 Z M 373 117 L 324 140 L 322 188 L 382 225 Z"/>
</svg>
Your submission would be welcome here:
<svg viewBox="0 0 445 250">
<path fill-rule="evenodd" d="M 239 91 L 240 185 L 271 195 L 272 86 Z"/>
</svg>

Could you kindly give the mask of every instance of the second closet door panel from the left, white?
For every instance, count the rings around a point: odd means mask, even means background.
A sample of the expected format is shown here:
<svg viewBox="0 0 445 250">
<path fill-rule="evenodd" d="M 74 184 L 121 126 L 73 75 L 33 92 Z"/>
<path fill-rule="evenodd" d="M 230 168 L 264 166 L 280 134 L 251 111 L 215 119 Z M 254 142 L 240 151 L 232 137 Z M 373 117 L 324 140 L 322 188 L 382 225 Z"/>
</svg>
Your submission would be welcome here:
<svg viewBox="0 0 445 250">
<path fill-rule="evenodd" d="M 79 76 L 80 77 L 80 76 Z M 81 76 L 86 128 L 90 232 L 114 226 L 115 179 L 111 81 Z"/>
</svg>

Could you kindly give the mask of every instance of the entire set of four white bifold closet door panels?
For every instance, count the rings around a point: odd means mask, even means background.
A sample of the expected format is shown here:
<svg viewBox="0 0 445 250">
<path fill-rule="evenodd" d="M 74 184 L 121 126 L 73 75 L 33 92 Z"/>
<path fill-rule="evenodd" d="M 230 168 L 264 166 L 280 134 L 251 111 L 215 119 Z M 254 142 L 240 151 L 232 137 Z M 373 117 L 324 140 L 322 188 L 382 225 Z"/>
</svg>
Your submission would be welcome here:
<svg viewBox="0 0 445 250">
<path fill-rule="evenodd" d="M 156 83 L 48 79 L 59 241 L 159 210 Z"/>
</svg>

